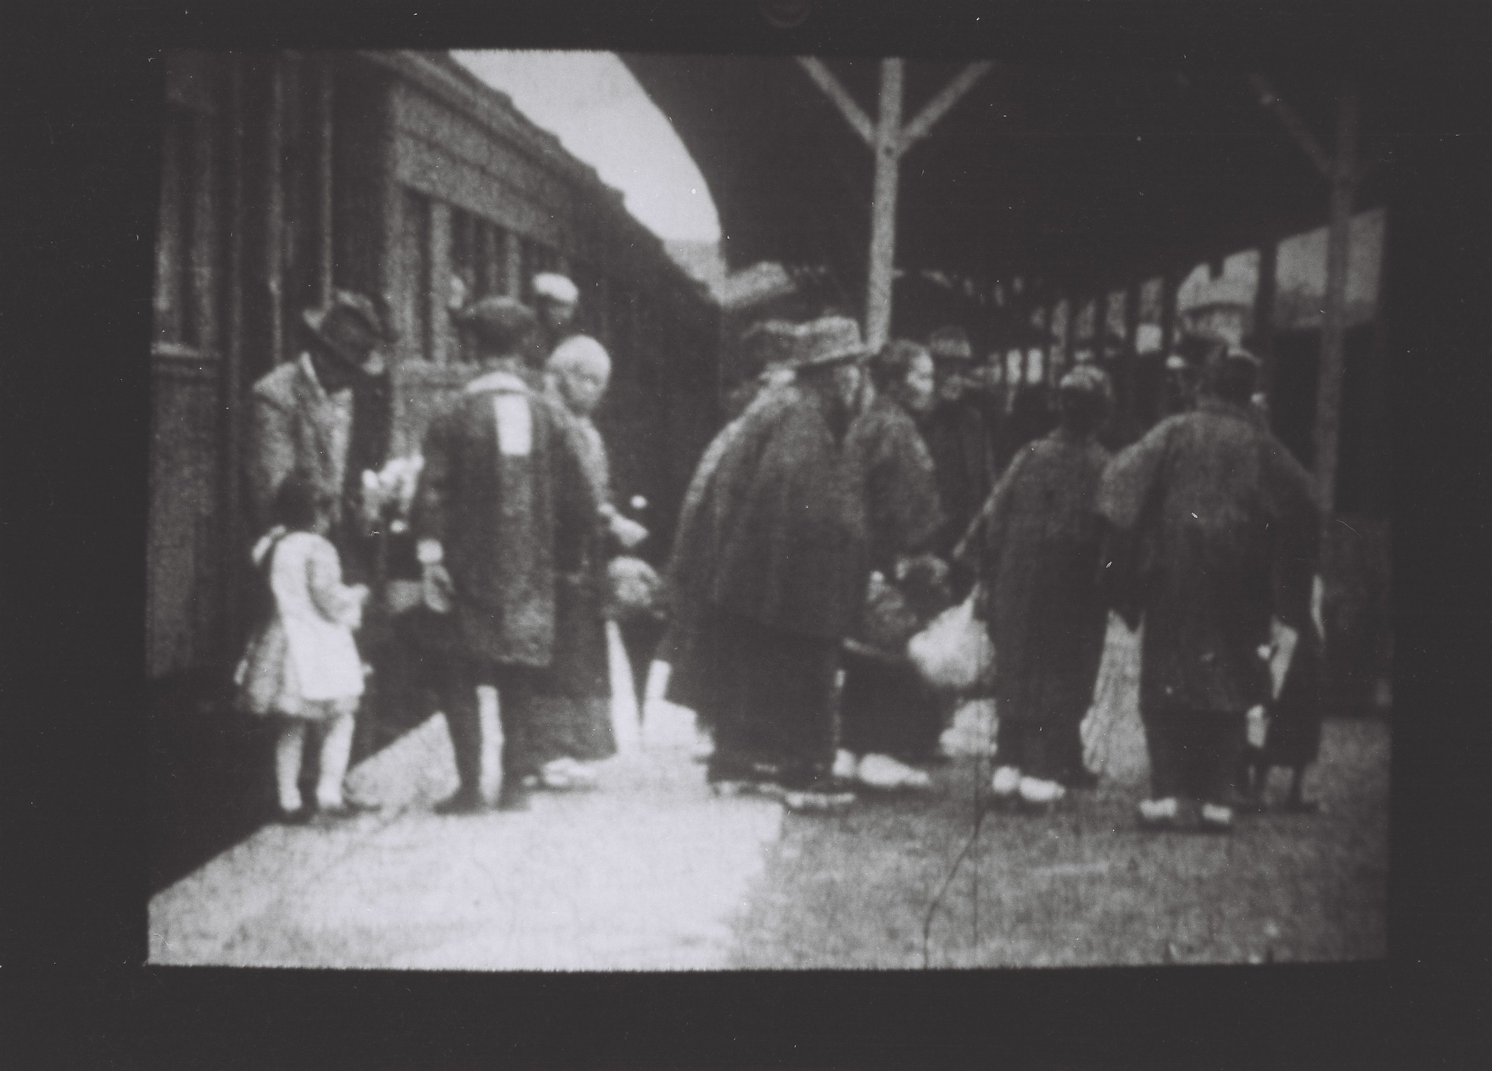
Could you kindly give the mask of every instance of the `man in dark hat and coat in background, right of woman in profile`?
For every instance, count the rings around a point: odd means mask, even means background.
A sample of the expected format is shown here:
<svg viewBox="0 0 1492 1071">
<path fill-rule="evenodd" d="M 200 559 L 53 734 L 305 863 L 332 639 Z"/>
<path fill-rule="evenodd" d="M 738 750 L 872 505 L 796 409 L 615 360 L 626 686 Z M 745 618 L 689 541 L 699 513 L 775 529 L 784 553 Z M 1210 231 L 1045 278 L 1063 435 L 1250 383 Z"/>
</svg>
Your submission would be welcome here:
<svg viewBox="0 0 1492 1071">
<path fill-rule="evenodd" d="M 994 443 L 979 400 L 967 389 L 965 377 L 974 362 L 968 336 L 958 327 L 940 328 L 928 340 L 928 351 L 937 376 L 937 403 L 921 428 L 943 503 L 943 533 L 934 549 L 949 553 L 994 486 Z M 955 570 L 953 580 L 959 598 L 973 586 L 973 577 L 962 570 Z"/>
</svg>

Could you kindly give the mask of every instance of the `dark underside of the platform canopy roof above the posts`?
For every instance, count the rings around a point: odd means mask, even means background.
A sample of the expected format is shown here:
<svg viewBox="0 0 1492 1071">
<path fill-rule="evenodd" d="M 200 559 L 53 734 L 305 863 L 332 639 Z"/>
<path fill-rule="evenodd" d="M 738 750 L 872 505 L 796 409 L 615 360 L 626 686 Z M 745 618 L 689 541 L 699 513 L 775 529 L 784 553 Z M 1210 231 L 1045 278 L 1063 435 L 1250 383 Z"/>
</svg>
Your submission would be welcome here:
<svg viewBox="0 0 1492 1071">
<path fill-rule="evenodd" d="M 731 268 L 827 264 L 864 279 L 871 152 L 792 57 L 622 58 L 709 182 Z M 904 121 L 967 63 L 907 60 Z M 827 64 L 874 118 L 877 61 Z M 901 160 L 897 267 L 1092 289 L 1325 224 L 1328 180 L 1250 73 L 997 63 Z M 1340 78 L 1256 73 L 1329 154 Z M 1349 73 L 1362 158 L 1471 121 L 1447 112 L 1461 94 L 1423 57 Z M 1359 207 L 1386 197 L 1392 170 L 1368 173 Z"/>
</svg>

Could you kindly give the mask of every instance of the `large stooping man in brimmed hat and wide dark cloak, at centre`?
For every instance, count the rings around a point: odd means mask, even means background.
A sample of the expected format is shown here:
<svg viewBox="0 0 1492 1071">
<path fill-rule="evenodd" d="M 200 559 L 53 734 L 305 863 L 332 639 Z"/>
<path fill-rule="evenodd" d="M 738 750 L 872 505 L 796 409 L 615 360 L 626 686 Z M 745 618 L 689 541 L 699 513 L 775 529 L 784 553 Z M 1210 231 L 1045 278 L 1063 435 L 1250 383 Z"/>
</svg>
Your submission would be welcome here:
<svg viewBox="0 0 1492 1071">
<path fill-rule="evenodd" d="M 697 697 L 715 726 L 710 783 L 774 783 L 789 807 L 819 808 L 853 801 L 831 774 L 833 706 L 864 600 L 864 503 L 844 440 L 865 351 L 844 318 L 794 334 L 797 383 L 742 418 L 671 573 L 698 585 L 709 619 L 679 671 L 712 682 Z"/>
</svg>

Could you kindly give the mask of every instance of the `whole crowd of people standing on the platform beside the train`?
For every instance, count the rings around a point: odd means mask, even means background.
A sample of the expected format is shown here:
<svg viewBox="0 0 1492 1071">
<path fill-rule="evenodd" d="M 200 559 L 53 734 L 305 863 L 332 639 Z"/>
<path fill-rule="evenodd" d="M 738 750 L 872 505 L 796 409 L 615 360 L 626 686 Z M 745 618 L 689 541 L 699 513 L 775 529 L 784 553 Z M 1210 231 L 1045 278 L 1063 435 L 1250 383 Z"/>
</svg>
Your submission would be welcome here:
<svg viewBox="0 0 1492 1071">
<path fill-rule="evenodd" d="M 282 820 L 376 805 L 343 788 L 376 673 L 360 646 L 386 647 L 401 609 L 424 622 L 455 753 L 442 813 L 488 807 L 483 688 L 503 737 L 492 805 L 594 786 L 616 750 L 607 622 L 639 712 L 649 665 L 667 664 L 667 698 L 695 712 L 718 794 L 836 810 L 862 792 L 927 792 L 964 697 L 913 652 L 959 607 L 995 652 L 997 804 L 1047 810 L 1097 783 L 1080 725 L 1118 615 L 1143 622 L 1141 825 L 1225 831 L 1279 765 L 1295 773 L 1288 805 L 1307 805 L 1317 506 L 1268 431 L 1246 351 L 1179 352 L 1171 415 L 1118 452 L 1103 442 L 1109 377 L 1080 364 L 1058 383 L 1056 427 L 1003 450 L 962 330 L 871 351 L 846 316 L 761 322 L 659 576 L 634 553 L 649 531 L 613 500 L 591 422 L 610 358 L 573 330 L 573 283 L 545 274 L 534 294 L 537 312 L 507 297 L 457 310 L 477 368 L 413 462 L 383 465 L 392 330 L 376 301 L 339 292 L 307 312 L 301 357 L 255 386 L 267 595 L 237 680 L 280 726 Z M 403 607 L 369 594 L 389 565 L 370 531 L 389 516 L 407 527 Z"/>
</svg>

